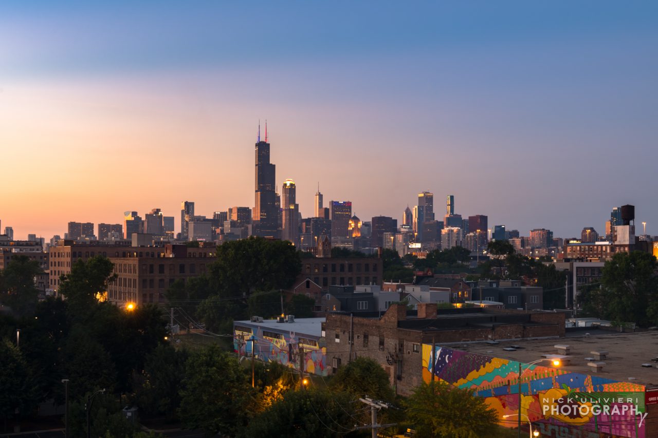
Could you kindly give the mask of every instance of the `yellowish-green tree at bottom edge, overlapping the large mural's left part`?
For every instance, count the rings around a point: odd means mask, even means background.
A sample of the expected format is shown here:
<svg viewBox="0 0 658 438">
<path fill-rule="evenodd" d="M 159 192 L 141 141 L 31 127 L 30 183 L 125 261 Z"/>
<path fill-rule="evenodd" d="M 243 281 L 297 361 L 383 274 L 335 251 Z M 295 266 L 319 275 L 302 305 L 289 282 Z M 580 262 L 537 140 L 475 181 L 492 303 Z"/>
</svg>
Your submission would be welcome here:
<svg viewBox="0 0 658 438">
<path fill-rule="evenodd" d="M 490 437 L 497 424 L 495 411 L 482 397 L 442 381 L 418 386 L 406 404 L 407 420 L 418 438 Z"/>
</svg>

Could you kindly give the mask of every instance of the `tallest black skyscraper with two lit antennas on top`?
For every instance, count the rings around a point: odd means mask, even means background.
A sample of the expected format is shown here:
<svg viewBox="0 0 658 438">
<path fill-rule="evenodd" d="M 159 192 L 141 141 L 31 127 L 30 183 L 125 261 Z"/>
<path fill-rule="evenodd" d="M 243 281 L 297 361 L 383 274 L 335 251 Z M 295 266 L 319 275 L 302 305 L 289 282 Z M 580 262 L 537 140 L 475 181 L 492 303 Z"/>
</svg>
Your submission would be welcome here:
<svg viewBox="0 0 658 438">
<path fill-rule="evenodd" d="M 253 208 L 253 233 L 261 237 L 278 237 L 279 209 L 276 207 L 276 166 L 270 163 L 270 143 L 267 143 L 267 125 L 265 141 L 261 141 L 261 126 L 258 127 L 256 143 L 255 190 L 256 199 Z"/>
</svg>

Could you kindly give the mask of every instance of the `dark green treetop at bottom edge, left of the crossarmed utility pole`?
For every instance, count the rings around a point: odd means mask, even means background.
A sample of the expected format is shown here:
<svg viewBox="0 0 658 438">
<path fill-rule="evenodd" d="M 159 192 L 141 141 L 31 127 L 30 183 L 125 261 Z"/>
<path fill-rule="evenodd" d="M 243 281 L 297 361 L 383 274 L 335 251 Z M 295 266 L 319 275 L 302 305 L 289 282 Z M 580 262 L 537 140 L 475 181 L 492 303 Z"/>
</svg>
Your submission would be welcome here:
<svg viewBox="0 0 658 438">
<path fill-rule="evenodd" d="M 318 389 L 289 391 L 249 421 L 240 437 L 334 438 L 353 429 L 358 401 L 345 393 Z"/>
</svg>

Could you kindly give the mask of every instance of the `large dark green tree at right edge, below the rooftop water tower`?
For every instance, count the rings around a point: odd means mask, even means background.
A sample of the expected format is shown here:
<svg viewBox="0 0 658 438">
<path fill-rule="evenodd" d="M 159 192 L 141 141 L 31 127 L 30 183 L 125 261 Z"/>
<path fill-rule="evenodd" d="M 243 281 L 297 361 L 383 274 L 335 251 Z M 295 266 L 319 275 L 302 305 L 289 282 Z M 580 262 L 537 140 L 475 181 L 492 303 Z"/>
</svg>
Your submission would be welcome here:
<svg viewBox="0 0 658 438">
<path fill-rule="evenodd" d="M 601 287 L 588 287 L 581 296 L 586 312 L 617 323 L 641 327 L 658 324 L 656 258 L 643 251 L 616 253 L 605 262 Z"/>
</svg>

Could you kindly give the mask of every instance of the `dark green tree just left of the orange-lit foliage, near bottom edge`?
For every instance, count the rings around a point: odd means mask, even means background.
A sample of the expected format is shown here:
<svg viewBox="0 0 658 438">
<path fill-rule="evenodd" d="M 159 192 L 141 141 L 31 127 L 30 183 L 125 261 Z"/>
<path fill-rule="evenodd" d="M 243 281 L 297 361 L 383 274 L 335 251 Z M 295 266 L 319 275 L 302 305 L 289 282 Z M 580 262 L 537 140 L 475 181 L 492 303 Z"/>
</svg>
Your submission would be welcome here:
<svg viewBox="0 0 658 438">
<path fill-rule="evenodd" d="M 211 345 L 186 362 L 178 415 L 190 429 L 235 435 L 245 426 L 251 395 L 238 360 Z"/>
</svg>

